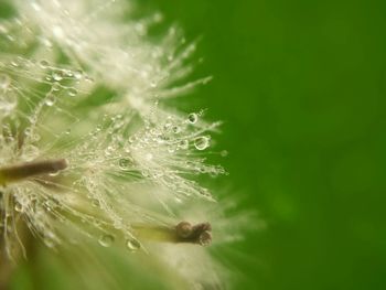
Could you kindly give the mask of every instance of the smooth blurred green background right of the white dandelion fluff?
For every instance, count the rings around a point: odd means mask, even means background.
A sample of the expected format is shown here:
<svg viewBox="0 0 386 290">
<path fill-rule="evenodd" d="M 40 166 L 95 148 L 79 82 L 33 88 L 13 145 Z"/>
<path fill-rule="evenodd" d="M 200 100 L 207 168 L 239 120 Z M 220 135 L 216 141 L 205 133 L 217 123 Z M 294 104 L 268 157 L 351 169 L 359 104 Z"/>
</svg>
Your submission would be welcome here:
<svg viewBox="0 0 386 290">
<path fill-rule="evenodd" d="M 222 161 L 268 227 L 236 289 L 386 289 L 386 1 L 153 0 L 203 35 L 190 100 L 225 120 Z"/>
</svg>

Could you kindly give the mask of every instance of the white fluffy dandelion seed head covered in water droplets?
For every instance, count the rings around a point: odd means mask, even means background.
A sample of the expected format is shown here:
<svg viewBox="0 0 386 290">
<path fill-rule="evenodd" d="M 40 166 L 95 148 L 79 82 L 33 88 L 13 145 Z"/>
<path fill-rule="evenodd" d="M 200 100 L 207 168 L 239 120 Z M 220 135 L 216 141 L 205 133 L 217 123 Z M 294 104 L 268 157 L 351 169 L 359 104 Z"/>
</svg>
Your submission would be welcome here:
<svg viewBox="0 0 386 290">
<path fill-rule="evenodd" d="M 53 250 L 95 241 L 159 260 L 175 289 L 223 284 L 202 247 L 212 230 L 227 239 L 211 221 L 223 213 L 196 179 L 225 173 L 203 158 L 218 123 L 159 104 L 207 80 L 172 87 L 194 45 L 175 53 L 175 28 L 150 42 L 161 17 L 125 24 L 118 1 L 10 4 L 14 15 L 0 22 L 1 267 L 28 257 L 31 233 Z"/>
</svg>

